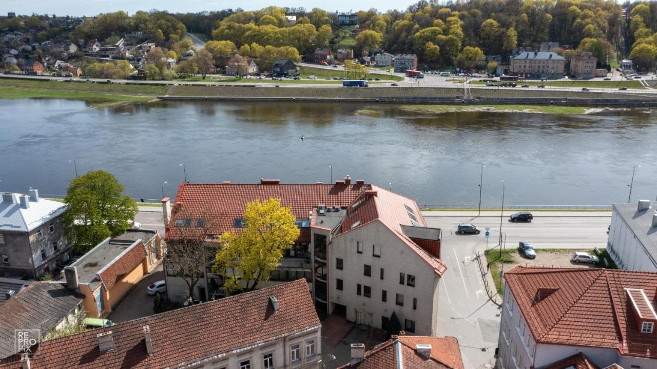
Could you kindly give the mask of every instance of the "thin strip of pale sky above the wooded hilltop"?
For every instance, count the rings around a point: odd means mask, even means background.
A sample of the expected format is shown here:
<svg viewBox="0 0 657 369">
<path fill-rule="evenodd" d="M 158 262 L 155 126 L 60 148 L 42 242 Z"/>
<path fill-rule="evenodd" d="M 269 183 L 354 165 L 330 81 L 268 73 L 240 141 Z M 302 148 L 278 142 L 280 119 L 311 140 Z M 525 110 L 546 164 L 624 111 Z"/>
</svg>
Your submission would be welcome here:
<svg viewBox="0 0 657 369">
<path fill-rule="evenodd" d="M 0 14 L 7 12 L 16 14 L 56 14 L 58 16 L 91 16 L 104 12 L 127 11 L 132 15 L 136 11 L 149 11 L 158 9 L 168 12 L 200 12 L 219 11 L 221 9 L 257 10 L 269 5 L 279 7 L 304 7 L 307 10 L 321 8 L 326 11 L 359 11 L 376 8 L 385 12 L 388 9 L 403 10 L 417 0 L 378 0 L 359 1 L 350 0 L 286 0 L 285 3 L 272 0 L 32 0 L 11 1 L 0 0 Z M 354 7 L 356 6 L 356 7 Z"/>
</svg>

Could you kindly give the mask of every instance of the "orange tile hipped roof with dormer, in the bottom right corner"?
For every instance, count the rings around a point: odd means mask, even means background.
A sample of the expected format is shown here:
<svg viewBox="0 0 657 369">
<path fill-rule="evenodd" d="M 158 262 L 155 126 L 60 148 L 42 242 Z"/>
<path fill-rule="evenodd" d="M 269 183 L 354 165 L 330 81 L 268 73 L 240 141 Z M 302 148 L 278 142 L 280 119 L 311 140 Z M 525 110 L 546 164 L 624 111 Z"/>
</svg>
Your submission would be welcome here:
<svg viewBox="0 0 657 369">
<path fill-rule="evenodd" d="M 620 355 L 657 358 L 655 334 L 637 330 L 625 288 L 656 301 L 657 273 L 611 269 L 515 267 L 505 273 L 537 343 L 617 349 Z M 537 296 L 539 290 L 552 293 Z"/>
</svg>

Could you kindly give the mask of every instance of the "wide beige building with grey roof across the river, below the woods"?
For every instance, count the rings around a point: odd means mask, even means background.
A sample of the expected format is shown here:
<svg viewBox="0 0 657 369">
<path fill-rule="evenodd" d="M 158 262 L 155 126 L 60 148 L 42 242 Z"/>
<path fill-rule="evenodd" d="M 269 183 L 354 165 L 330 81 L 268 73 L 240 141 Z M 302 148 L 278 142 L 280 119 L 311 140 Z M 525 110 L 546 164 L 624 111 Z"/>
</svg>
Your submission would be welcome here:
<svg viewBox="0 0 657 369">
<path fill-rule="evenodd" d="M 560 78 L 566 58 L 556 53 L 520 53 L 511 57 L 510 74 L 526 78 Z"/>
</svg>

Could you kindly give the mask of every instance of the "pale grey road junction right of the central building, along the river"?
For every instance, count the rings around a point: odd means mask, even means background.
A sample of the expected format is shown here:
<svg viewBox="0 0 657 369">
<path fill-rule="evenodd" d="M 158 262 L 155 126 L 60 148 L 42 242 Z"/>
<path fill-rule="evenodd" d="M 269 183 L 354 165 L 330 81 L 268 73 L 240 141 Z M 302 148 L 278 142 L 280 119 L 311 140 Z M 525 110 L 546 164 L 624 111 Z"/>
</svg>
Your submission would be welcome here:
<svg viewBox="0 0 657 369">
<path fill-rule="evenodd" d="M 438 335 L 459 339 L 466 368 L 490 368 L 495 364 L 493 355 L 499 336 L 500 309 L 488 299 L 475 259 L 475 250 L 486 250 L 486 237 L 483 232 L 461 236 L 454 231 L 459 223 L 466 221 L 482 230 L 483 227 L 499 230 L 499 213 L 496 216 L 487 211 L 483 217 L 475 219 L 469 212 L 425 211 L 422 214 L 428 227 L 443 229 L 441 258 L 447 265 L 447 272 L 440 286 Z M 595 216 L 535 212 L 532 223 L 509 223 L 505 212 L 502 227 L 503 232 L 507 232 L 507 247 L 515 247 L 520 240 L 529 240 L 536 248 L 606 246 L 611 213 L 591 214 Z M 496 244 L 493 232 L 489 246 Z"/>
</svg>

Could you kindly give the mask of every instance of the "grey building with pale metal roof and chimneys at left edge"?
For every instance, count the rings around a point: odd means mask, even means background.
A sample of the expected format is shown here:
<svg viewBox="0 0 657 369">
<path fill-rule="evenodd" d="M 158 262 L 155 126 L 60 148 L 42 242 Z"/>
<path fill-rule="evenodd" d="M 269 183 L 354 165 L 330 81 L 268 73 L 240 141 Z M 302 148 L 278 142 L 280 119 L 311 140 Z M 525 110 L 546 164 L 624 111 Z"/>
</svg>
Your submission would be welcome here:
<svg viewBox="0 0 657 369">
<path fill-rule="evenodd" d="M 55 273 L 72 256 L 64 237 L 66 204 L 29 195 L 3 193 L 0 202 L 0 276 L 36 279 Z"/>
</svg>

